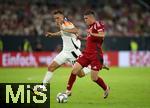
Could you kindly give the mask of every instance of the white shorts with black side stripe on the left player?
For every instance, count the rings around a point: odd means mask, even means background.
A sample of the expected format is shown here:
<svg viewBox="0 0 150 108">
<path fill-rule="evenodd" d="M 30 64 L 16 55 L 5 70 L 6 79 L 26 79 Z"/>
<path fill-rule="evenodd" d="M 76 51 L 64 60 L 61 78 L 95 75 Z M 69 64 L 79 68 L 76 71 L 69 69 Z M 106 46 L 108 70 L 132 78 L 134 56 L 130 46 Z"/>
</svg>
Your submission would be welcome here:
<svg viewBox="0 0 150 108">
<path fill-rule="evenodd" d="M 77 57 L 81 55 L 79 49 L 73 51 L 61 51 L 55 58 L 54 61 L 59 65 L 62 65 L 66 62 L 70 62 L 72 65 L 76 62 Z"/>
</svg>

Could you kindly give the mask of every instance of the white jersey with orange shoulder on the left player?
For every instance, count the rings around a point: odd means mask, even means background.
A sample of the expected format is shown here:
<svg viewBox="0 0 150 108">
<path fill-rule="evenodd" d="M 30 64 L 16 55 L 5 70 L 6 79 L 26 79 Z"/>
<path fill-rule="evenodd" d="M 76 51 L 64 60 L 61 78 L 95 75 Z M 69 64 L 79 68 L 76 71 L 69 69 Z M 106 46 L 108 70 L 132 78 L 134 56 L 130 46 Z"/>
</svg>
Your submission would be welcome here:
<svg viewBox="0 0 150 108">
<path fill-rule="evenodd" d="M 64 23 L 62 24 L 62 28 L 63 30 L 72 29 L 74 28 L 74 25 L 69 21 L 64 21 Z M 61 31 L 61 37 L 63 40 L 63 51 L 80 49 L 81 42 L 77 39 L 77 36 L 75 34 Z"/>
</svg>

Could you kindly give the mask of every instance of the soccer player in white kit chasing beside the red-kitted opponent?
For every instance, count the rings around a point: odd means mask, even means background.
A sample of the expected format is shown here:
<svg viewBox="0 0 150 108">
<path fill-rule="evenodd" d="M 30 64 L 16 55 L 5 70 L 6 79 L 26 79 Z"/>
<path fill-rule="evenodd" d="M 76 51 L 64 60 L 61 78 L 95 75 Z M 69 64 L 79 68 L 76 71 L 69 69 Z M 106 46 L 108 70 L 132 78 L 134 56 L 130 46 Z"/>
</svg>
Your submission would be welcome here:
<svg viewBox="0 0 150 108">
<path fill-rule="evenodd" d="M 73 66 L 77 57 L 81 54 L 80 46 L 81 42 L 77 39 L 79 29 L 77 29 L 67 18 L 64 17 L 64 14 L 60 10 L 53 12 L 53 17 L 55 23 L 60 28 L 60 31 L 51 33 L 47 32 L 46 37 L 53 37 L 60 35 L 63 40 L 63 49 L 62 51 L 53 59 L 53 61 L 48 65 L 48 71 L 43 79 L 43 85 L 46 86 L 50 82 L 54 71 L 59 68 L 62 64 L 70 62 Z M 79 77 L 85 76 L 85 74 L 91 71 L 90 68 L 85 67 L 78 73 Z M 71 90 L 66 90 L 66 94 L 70 95 Z"/>
</svg>

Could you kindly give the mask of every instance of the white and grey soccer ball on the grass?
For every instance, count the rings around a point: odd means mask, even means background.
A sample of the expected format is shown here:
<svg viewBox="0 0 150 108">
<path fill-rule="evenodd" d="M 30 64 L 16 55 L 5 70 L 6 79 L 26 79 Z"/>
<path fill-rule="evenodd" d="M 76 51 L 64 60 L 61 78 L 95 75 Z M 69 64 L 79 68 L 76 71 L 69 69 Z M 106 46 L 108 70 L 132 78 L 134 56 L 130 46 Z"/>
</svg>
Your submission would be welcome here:
<svg viewBox="0 0 150 108">
<path fill-rule="evenodd" d="M 58 93 L 56 100 L 58 103 L 66 103 L 68 101 L 68 96 L 65 93 Z"/>
</svg>

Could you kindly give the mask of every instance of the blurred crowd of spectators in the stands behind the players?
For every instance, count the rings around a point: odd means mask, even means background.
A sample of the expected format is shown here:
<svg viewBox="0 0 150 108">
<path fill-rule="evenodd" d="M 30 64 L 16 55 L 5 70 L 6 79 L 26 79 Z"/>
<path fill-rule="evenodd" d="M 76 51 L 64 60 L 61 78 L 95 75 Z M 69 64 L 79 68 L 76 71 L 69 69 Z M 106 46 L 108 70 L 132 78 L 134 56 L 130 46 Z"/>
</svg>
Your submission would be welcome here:
<svg viewBox="0 0 150 108">
<path fill-rule="evenodd" d="M 82 12 L 92 7 L 104 21 L 107 36 L 150 36 L 149 10 L 131 0 L 1 0 L 0 34 L 37 36 L 56 31 L 51 11 L 57 6 L 83 31 Z"/>
</svg>

